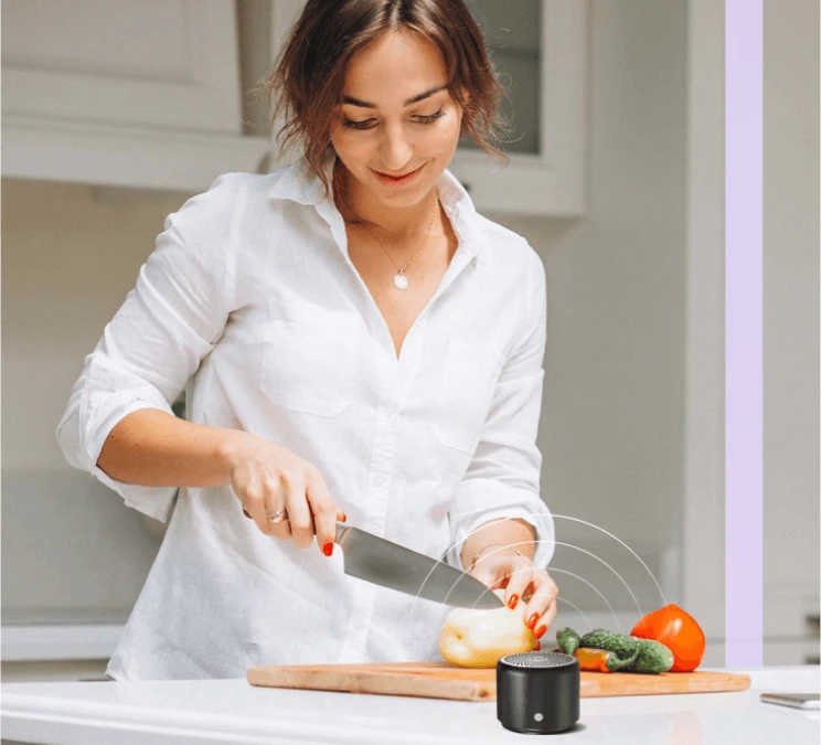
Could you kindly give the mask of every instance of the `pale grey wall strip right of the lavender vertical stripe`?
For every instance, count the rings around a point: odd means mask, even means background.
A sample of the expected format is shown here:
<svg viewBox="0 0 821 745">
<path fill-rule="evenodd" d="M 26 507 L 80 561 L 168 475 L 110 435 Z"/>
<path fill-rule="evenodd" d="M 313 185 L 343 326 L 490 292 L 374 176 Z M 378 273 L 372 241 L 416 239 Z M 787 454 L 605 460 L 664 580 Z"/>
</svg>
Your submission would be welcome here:
<svg viewBox="0 0 821 745">
<path fill-rule="evenodd" d="M 783 638 L 819 604 L 819 3 L 765 2 L 764 29 L 764 630 Z"/>
</svg>

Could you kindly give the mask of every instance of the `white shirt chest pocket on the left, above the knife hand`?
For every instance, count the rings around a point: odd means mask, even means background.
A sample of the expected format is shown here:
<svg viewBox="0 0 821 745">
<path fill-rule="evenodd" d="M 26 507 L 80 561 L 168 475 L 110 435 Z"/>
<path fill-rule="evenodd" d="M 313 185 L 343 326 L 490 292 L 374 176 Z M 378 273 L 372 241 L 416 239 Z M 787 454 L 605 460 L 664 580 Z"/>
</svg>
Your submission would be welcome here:
<svg viewBox="0 0 821 745">
<path fill-rule="evenodd" d="M 333 417 L 353 400 L 360 333 L 356 319 L 328 311 L 299 320 L 270 318 L 263 349 L 263 392 L 277 406 Z"/>
</svg>

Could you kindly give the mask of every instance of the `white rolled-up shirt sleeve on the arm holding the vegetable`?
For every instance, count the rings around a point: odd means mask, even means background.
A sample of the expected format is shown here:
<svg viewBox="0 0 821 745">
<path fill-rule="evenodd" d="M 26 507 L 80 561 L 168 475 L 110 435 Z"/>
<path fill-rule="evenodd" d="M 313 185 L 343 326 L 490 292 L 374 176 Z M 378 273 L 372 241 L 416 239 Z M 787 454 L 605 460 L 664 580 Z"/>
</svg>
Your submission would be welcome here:
<svg viewBox="0 0 821 745">
<path fill-rule="evenodd" d="M 491 520 L 519 518 L 536 533 L 533 563 L 546 566 L 555 549 L 553 518 L 540 497 L 542 455 L 536 433 L 542 407 L 546 338 L 544 267 L 532 254 L 530 291 L 521 332 L 497 382 L 479 445 L 448 514 L 451 551 L 447 562 L 460 570 L 465 541 Z"/>
</svg>

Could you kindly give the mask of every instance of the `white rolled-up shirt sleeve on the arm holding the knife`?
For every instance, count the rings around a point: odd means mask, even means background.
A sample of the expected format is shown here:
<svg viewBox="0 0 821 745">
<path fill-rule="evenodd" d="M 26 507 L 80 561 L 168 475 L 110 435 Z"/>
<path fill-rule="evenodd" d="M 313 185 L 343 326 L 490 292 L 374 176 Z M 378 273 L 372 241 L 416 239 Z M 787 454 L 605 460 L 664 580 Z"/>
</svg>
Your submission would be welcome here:
<svg viewBox="0 0 821 745">
<path fill-rule="evenodd" d="M 85 359 L 57 441 L 66 460 L 119 493 L 126 504 L 168 519 L 177 487 L 117 481 L 98 466 L 103 444 L 129 414 L 171 404 L 222 336 L 234 284 L 233 174 L 166 220 L 134 289 Z"/>
</svg>

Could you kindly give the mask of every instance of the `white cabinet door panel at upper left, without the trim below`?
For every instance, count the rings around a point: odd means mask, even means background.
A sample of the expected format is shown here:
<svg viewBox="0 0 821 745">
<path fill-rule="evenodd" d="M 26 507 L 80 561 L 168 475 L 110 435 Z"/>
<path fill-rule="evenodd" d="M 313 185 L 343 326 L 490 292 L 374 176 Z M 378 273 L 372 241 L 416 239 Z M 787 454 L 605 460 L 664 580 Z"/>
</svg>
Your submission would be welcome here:
<svg viewBox="0 0 821 745">
<path fill-rule="evenodd" d="M 239 134 L 231 0 L 7 0 L 3 115 Z"/>
</svg>

